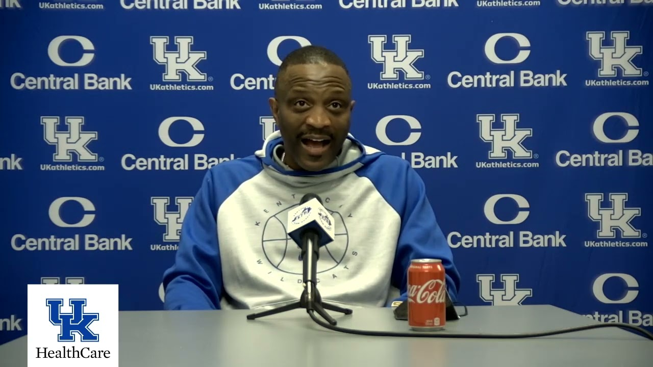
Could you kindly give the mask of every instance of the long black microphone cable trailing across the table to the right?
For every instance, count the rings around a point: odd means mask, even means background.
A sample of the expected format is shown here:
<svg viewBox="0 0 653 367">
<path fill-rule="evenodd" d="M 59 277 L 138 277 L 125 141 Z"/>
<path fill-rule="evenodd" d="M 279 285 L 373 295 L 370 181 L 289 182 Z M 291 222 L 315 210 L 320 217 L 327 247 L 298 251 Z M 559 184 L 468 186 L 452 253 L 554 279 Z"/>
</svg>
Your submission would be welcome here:
<svg viewBox="0 0 653 367">
<path fill-rule="evenodd" d="M 312 306 L 312 305 L 311 305 Z M 320 325 L 321 327 L 328 328 L 337 332 L 344 332 L 347 334 L 356 334 L 356 335 L 367 335 L 367 336 L 406 336 L 408 338 L 482 338 L 482 339 L 520 339 L 520 338 L 539 338 L 540 336 L 550 336 L 565 334 L 568 332 L 577 332 L 583 330 L 590 330 L 594 328 L 606 328 L 606 327 L 618 327 L 625 328 L 630 330 L 635 330 L 643 334 L 646 338 L 653 340 L 653 333 L 649 332 L 645 328 L 637 327 L 635 325 L 630 325 L 627 323 L 599 323 L 593 325 L 585 325 L 582 327 L 570 327 L 562 328 L 557 330 L 546 330 L 540 332 L 518 332 L 514 334 L 482 334 L 482 333 L 458 333 L 458 332 L 389 332 L 389 331 L 372 331 L 372 330 L 358 330 L 352 328 L 343 328 L 334 325 L 329 325 L 322 321 L 317 316 L 315 316 L 315 311 L 312 309 L 306 310 L 311 316 L 311 319 Z"/>
</svg>

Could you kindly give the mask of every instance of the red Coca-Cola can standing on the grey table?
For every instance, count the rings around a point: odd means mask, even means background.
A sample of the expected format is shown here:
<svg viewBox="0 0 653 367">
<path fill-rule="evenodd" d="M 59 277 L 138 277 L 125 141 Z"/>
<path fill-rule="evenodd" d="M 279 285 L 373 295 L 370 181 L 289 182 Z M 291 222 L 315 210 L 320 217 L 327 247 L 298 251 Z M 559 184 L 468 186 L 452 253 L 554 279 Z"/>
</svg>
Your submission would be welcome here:
<svg viewBox="0 0 653 367">
<path fill-rule="evenodd" d="M 439 259 L 415 259 L 408 267 L 408 326 L 431 331 L 445 327 L 447 315 L 445 268 Z"/>
</svg>

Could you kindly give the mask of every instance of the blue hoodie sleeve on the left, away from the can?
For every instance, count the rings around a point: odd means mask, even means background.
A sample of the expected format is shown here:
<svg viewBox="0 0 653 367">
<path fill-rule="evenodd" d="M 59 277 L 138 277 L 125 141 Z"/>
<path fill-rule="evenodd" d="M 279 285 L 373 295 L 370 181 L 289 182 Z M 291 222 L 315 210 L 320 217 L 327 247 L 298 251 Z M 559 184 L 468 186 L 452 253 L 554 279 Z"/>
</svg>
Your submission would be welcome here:
<svg viewBox="0 0 653 367">
<path fill-rule="evenodd" d="M 164 310 L 219 310 L 222 272 L 215 181 L 209 170 L 182 223 L 174 264 L 163 274 Z"/>
</svg>

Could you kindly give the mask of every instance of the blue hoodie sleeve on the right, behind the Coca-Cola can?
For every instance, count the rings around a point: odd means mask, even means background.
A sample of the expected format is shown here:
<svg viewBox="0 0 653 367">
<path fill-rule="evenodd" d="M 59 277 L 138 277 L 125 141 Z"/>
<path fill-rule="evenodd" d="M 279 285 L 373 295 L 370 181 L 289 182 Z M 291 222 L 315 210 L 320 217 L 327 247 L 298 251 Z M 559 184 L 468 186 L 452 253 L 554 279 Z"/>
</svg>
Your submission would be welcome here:
<svg viewBox="0 0 653 367">
<path fill-rule="evenodd" d="M 458 298 L 460 274 L 453 262 L 453 253 L 440 228 L 434 210 L 426 197 L 424 181 L 406 163 L 406 195 L 401 215 L 401 230 L 394 257 L 391 282 L 400 291 L 398 301 L 407 299 L 407 272 L 412 259 L 441 259 L 445 267 L 447 290 L 452 302 Z"/>
</svg>

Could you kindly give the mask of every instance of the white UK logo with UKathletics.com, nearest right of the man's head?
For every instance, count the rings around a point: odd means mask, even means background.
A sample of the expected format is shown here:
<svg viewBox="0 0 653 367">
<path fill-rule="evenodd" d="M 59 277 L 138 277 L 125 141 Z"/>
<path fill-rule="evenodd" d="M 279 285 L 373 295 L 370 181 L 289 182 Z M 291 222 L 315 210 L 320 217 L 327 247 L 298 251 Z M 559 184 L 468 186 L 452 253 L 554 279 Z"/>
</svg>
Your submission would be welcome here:
<svg viewBox="0 0 653 367">
<path fill-rule="evenodd" d="M 372 61 L 381 66 L 381 83 L 368 83 L 368 89 L 428 89 L 431 84 L 410 83 L 429 80 L 430 75 L 417 69 L 415 62 L 424 57 L 423 49 L 411 48 L 412 35 L 369 35 Z M 404 80 L 404 82 L 396 82 Z M 390 82 L 393 81 L 393 82 Z"/>
</svg>

